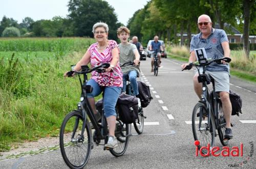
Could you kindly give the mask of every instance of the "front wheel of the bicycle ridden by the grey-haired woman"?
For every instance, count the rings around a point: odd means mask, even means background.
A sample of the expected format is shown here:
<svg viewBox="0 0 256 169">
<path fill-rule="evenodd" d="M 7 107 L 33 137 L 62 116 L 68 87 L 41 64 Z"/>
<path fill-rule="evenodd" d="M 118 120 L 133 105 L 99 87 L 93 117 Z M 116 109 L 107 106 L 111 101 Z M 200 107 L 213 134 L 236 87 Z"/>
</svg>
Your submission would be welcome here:
<svg viewBox="0 0 256 169">
<path fill-rule="evenodd" d="M 61 155 L 70 168 L 83 168 L 91 154 L 91 131 L 86 123 L 84 133 L 81 111 L 71 111 L 63 120 L 59 133 Z M 81 136 L 82 135 L 82 136 Z"/>
</svg>

